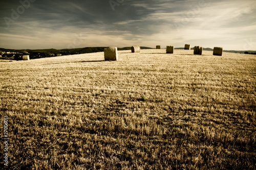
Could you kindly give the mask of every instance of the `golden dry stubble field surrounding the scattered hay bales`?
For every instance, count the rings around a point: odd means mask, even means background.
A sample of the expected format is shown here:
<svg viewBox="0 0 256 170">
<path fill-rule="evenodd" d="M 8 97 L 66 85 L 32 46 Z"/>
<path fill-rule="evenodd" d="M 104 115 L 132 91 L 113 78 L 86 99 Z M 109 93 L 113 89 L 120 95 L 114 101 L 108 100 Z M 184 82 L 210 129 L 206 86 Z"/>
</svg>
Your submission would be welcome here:
<svg viewBox="0 0 256 170">
<path fill-rule="evenodd" d="M 9 168 L 255 169 L 254 55 L 118 53 L 0 62 Z"/>
</svg>

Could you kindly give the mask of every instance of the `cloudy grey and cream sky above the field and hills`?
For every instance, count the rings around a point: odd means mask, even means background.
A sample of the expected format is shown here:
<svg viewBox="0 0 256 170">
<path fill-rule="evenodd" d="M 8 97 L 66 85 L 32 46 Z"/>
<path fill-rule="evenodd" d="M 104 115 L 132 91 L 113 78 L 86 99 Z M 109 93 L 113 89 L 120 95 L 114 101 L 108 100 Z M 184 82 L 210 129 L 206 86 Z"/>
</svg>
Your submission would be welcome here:
<svg viewBox="0 0 256 170">
<path fill-rule="evenodd" d="M 2 0 L 0 47 L 256 50 L 255 0 Z"/>
</svg>

